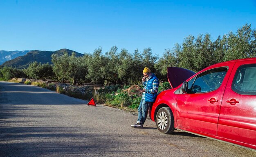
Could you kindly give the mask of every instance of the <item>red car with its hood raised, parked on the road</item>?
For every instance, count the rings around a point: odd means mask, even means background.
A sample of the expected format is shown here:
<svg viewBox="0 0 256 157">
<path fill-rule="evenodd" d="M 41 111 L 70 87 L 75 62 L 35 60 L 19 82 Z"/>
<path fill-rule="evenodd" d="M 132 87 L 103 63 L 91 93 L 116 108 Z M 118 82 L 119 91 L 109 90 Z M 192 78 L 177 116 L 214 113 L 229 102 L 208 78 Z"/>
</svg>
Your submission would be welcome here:
<svg viewBox="0 0 256 157">
<path fill-rule="evenodd" d="M 160 92 L 150 118 L 161 133 L 174 129 L 256 149 L 256 58 L 200 72 L 168 68 L 173 87 Z"/>
</svg>

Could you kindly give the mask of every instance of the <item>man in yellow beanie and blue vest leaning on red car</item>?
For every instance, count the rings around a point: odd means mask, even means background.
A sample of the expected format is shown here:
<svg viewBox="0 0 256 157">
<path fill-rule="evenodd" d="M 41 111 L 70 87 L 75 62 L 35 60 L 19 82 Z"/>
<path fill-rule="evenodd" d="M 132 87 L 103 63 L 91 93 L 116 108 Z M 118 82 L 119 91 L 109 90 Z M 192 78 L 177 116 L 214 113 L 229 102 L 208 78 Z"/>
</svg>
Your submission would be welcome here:
<svg viewBox="0 0 256 157">
<path fill-rule="evenodd" d="M 143 70 L 144 77 L 142 78 L 142 84 L 144 88 L 141 90 L 142 98 L 138 108 L 138 120 L 137 123 L 131 125 L 132 128 L 142 128 L 146 118 L 148 116 L 148 109 L 155 101 L 157 97 L 159 81 L 155 74 L 151 73 L 151 70 L 146 67 Z"/>
</svg>

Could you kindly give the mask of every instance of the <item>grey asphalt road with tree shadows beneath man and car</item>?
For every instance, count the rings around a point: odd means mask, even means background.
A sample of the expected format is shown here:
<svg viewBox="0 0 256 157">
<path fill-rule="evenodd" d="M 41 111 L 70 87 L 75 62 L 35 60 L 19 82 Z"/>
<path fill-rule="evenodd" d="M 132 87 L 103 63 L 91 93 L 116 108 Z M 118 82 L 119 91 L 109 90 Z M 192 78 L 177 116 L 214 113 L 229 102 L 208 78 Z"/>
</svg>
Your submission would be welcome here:
<svg viewBox="0 0 256 157">
<path fill-rule="evenodd" d="M 0 156 L 256 157 L 256 151 L 175 131 L 33 85 L 0 81 Z"/>
</svg>

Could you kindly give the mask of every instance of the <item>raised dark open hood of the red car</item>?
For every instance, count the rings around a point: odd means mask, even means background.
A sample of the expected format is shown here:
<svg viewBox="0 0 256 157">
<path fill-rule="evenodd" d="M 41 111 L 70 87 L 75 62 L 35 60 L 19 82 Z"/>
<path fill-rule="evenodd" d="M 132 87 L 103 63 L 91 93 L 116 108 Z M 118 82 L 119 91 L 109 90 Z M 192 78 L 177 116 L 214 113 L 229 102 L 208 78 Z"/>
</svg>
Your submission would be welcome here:
<svg viewBox="0 0 256 157">
<path fill-rule="evenodd" d="M 172 88 L 182 84 L 184 81 L 193 76 L 195 72 L 179 67 L 168 67 L 167 78 Z"/>
</svg>

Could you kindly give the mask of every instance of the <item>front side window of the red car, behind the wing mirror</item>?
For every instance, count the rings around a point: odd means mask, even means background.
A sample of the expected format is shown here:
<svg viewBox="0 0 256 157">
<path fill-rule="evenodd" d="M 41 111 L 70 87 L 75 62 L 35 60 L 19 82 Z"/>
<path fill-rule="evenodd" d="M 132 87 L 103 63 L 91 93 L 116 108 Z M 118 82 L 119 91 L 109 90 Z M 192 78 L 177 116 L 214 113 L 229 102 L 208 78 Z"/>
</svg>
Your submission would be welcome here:
<svg viewBox="0 0 256 157">
<path fill-rule="evenodd" d="M 203 72 L 188 82 L 189 90 L 191 93 L 204 93 L 216 90 L 220 87 L 226 73 L 227 68 L 216 68 Z"/>
</svg>

